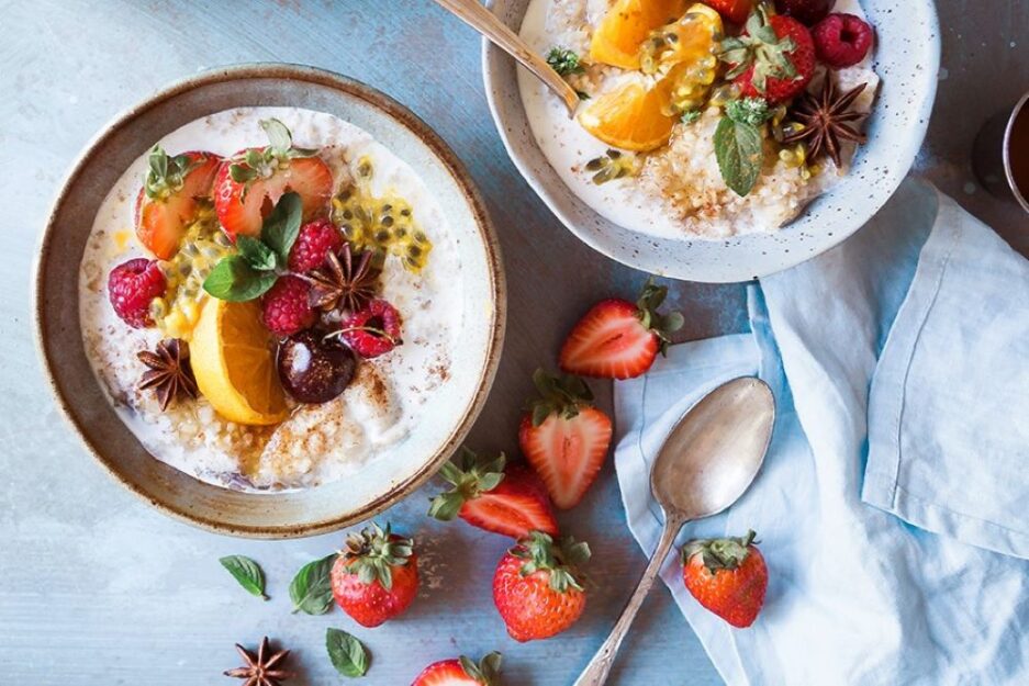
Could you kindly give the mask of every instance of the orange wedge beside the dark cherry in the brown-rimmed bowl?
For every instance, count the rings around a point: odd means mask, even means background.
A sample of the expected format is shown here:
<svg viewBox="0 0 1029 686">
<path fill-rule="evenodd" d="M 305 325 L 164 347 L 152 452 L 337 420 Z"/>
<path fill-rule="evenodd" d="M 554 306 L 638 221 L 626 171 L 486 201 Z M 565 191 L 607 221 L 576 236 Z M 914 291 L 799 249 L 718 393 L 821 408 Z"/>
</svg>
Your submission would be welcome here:
<svg viewBox="0 0 1029 686">
<path fill-rule="evenodd" d="M 208 299 L 190 340 L 190 362 L 200 392 L 230 421 L 269 425 L 289 415 L 257 301 Z"/>
</svg>

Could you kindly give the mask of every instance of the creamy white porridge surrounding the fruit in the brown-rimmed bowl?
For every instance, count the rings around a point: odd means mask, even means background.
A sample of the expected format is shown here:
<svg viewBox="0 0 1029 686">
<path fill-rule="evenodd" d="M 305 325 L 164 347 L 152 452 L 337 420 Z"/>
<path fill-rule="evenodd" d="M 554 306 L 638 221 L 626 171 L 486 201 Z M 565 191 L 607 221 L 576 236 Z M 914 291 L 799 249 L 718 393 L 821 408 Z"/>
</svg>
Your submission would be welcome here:
<svg viewBox="0 0 1029 686">
<path fill-rule="evenodd" d="M 247 491 L 314 486 L 357 472 L 387 451 L 400 449 L 449 379 L 449 351 L 460 334 L 463 275 L 446 216 L 417 173 L 370 134 L 336 116 L 295 108 L 227 110 L 191 122 L 161 138 L 175 155 L 208 150 L 231 156 L 267 144 L 259 125 L 276 117 L 298 147 L 326 148 L 322 156 L 337 184 L 358 159 L 372 161 L 376 195 L 394 194 L 413 207 L 415 223 L 433 243 L 418 273 L 387 259 L 381 297 L 403 316 L 404 342 L 359 364 L 354 383 L 335 401 L 299 405 L 282 424 L 244 427 L 221 418 L 201 398 L 174 403 L 161 413 L 148 391 L 136 389 L 141 350 L 161 335 L 133 329 L 111 307 L 110 270 L 134 257 L 150 257 L 134 234 L 134 204 L 146 156 L 121 176 L 93 221 L 79 277 L 79 313 L 87 357 L 125 426 L 157 459 L 200 480 Z"/>
</svg>

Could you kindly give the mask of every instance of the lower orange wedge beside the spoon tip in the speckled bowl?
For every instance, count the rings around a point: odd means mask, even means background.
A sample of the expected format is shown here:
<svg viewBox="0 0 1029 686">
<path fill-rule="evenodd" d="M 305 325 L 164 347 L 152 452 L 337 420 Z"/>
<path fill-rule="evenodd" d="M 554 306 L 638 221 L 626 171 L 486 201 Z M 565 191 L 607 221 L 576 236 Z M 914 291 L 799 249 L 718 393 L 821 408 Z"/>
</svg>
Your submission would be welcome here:
<svg viewBox="0 0 1029 686">
<path fill-rule="evenodd" d="M 668 143 L 675 125 L 675 117 L 663 112 L 664 98 L 658 89 L 626 83 L 597 98 L 579 115 L 579 123 L 612 147 L 652 150 Z"/>
</svg>

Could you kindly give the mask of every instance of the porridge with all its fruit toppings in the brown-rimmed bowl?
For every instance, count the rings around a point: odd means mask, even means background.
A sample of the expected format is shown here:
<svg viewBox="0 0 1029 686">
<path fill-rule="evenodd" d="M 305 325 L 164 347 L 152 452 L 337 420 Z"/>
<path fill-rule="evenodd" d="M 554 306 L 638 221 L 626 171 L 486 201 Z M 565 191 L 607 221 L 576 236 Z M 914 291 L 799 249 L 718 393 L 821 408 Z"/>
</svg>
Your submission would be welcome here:
<svg viewBox="0 0 1029 686">
<path fill-rule="evenodd" d="M 463 297 L 421 179 L 366 132 L 292 108 L 157 144 L 104 200 L 80 270 L 87 356 L 126 426 L 241 490 L 315 486 L 406 449 L 448 381 Z M 138 353 L 165 341 L 192 389 L 141 383 Z"/>
</svg>

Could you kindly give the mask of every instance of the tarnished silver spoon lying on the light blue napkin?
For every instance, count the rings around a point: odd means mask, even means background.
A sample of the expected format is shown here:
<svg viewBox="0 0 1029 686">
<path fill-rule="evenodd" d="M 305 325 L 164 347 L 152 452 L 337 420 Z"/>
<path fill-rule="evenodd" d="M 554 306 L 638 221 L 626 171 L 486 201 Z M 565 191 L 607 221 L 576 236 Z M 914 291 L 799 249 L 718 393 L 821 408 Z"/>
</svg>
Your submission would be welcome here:
<svg viewBox="0 0 1029 686">
<path fill-rule="evenodd" d="M 768 451 L 775 400 L 760 379 L 734 379 L 682 416 L 650 471 L 650 490 L 664 511 L 664 530 L 650 563 L 611 636 L 574 686 L 601 686 L 622 640 L 653 585 L 683 525 L 716 515 L 750 486 Z"/>
</svg>

